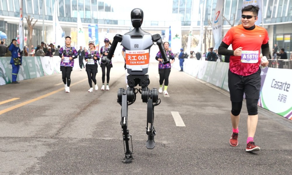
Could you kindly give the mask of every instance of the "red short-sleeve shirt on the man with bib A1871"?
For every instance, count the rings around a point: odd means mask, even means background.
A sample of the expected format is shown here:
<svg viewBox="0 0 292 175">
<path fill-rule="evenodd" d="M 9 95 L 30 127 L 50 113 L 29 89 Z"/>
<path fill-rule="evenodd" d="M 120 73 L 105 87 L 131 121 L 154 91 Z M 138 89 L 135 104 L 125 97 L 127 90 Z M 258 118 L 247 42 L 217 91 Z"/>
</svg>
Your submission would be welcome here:
<svg viewBox="0 0 292 175">
<path fill-rule="evenodd" d="M 256 63 L 244 63 L 241 62 L 241 56 L 230 56 L 230 71 L 241 76 L 248 76 L 258 71 L 260 48 L 268 40 L 267 30 L 257 25 L 253 30 L 246 30 L 242 25 L 230 28 L 222 41 L 227 45 L 232 44 L 232 50 L 242 47 L 242 51 L 258 51 L 258 62 Z"/>
</svg>

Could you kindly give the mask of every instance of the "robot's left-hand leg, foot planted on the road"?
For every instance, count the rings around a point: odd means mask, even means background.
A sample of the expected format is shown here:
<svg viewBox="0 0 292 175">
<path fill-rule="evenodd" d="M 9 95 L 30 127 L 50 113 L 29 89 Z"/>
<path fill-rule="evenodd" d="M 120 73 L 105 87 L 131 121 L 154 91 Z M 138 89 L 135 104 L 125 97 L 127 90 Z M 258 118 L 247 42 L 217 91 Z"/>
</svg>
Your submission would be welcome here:
<svg viewBox="0 0 292 175">
<path fill-rule="evenodd" d="M 130 91 L 128 91 L 130 92 Z M 131 92 L 130 92 L 131 93 Z M 132 162 L 132 153 L 133 153 L 133 144 L 132 144 L 132 151 L 129 148 L 129 140 L 131 137 L 132 143 L 132 135 L 129 134 L 128 127 L 128 100 L 127 100 L 127 91 L 123 88 L 119 88 L 118 91 L 118 102 L 121 104 L 121 126 L 122 126 L 122 133 L 123 133 L 123 141 L 124 141 L 124 150 L 125 150 L 125 158 L 123 163 L 131 163 Z M 126 147 L 125 147 L 126 145 Z"/>
</svg>

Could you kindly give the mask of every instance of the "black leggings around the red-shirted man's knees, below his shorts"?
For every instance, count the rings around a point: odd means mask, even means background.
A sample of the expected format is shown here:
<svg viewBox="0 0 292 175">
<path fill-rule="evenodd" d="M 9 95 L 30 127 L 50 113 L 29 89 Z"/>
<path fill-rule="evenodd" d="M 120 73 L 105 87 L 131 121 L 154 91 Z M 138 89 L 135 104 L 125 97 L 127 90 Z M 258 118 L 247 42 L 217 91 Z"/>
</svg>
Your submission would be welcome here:
<svg viewBox="0 0 292 175">
<path fill-rule="evenodd" d="M 231 113 L 234 116 L 240 114 L 242 101 L 241 102 L 231 102 L 232 109 Z M 246 99 L 246 108 L 248 115 L 257 115 L 258 114 L 258 99 Z"/>
</svg>

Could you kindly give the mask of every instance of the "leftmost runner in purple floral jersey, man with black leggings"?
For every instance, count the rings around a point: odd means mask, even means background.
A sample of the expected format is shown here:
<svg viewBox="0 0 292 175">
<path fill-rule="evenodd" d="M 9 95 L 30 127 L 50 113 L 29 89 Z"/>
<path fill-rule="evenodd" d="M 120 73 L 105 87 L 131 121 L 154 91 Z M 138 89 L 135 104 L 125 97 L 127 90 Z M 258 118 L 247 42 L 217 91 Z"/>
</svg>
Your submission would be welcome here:
<svg viewBox="0 0 292 175">
<path fill-rule="evenodd" d="M 74 66 L 74 59 L 77 58 L 77 50 L 71 46 L 71 37 L 66 36 L 65 46 L 60 48 L 59 57 L 61 58 L 60 70 L 62 71 L 62 80 L 65 84 L 65 92 L 70 92 L 71 72 Z"/>
</svg>

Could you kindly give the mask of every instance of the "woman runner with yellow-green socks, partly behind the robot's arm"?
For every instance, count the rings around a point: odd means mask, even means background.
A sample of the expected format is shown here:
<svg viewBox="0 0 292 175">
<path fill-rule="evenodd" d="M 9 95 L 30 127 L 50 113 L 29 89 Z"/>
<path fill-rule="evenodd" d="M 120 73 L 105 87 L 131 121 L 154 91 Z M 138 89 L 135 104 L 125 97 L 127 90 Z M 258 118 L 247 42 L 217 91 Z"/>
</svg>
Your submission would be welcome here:
<svg viewBox="0 0 292 175">
<path fill-rule="evenodd" d="M 164 42 L 163 46 L 164 46 L 164 49 L 166 51 L 167 57 L 171 61 L 168 64 L 163 64 L 162 63 L 163 58 L 161 56 L 160 51 L 156 54 L 155 59 L 157 61 L 159 61 L 159 64 L 158 64 L 158 73 L 159 73 L 159 85 L 160 86 L 159 86 L 158 92 L 159 93 L 162 92 L 162 84 L 163 84 L 163 81 L 164 81 L 164 94 L 165 95 L 168 95 L 168 92 L 167 92 L 168 77 L 169 77 L 169 74 L 170 74 L 170 71 L 171 71 L 171 64 L 174 62 L 174 55 L 171 52 L 171 50 L 168 50 L 168 47 L 169 47 L 169 43 L 168 42 Z"/>
</svg>

